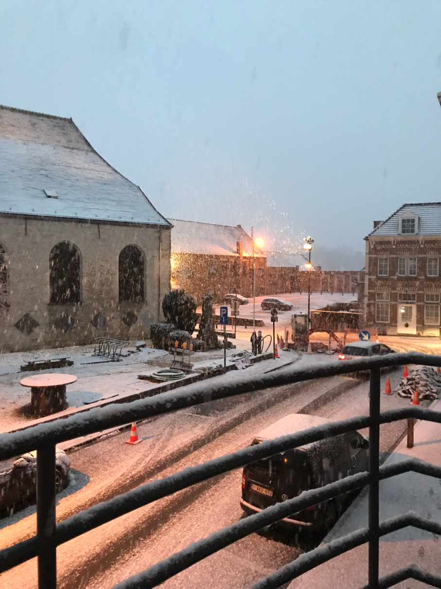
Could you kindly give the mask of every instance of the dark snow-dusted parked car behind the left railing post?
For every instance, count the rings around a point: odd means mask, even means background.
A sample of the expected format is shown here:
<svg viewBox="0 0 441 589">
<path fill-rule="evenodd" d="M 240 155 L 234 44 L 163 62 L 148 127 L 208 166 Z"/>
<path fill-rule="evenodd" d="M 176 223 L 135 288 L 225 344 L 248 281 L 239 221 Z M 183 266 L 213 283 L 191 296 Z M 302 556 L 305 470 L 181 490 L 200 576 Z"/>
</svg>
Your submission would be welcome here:
<svg viewBox="0 0 441 589">
<path fill-rule="evenodd" d="M 55 488 L 61 492 L 68 484 L 71 460 L 56 448 Z M 15 462 L 0 462 L 0 517 L 8 517 L 36 502 L 36 451 L 22 454 Z"/>
</svg>

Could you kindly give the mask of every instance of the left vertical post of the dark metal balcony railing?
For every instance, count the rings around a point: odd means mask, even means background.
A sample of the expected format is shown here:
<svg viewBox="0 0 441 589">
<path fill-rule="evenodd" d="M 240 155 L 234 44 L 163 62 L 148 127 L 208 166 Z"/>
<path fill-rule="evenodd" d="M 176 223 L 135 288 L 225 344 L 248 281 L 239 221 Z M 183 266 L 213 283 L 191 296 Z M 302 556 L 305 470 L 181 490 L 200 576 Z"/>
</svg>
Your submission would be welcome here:
<svg viewBox="0 0 441 589">
<path fill-rule="evenodd" d="M 56 589 L 55 444 L 37 450 L 38 588 Z"/>
</svg>

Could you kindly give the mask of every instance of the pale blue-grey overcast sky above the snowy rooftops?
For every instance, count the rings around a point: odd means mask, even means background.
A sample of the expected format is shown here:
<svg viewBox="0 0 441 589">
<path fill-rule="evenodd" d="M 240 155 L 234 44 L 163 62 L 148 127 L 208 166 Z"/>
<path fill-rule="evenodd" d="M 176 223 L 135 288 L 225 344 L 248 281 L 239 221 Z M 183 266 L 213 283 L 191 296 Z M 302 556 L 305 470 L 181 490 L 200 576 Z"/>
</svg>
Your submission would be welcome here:
<svg viewBox="0 0 441 589">
<path fill-rule="evenodd" d="M 0 102 L 72 117 L 169 217 L 364 252 L 441 201 L 441 2 L 3 0 Z"/>
</svg>

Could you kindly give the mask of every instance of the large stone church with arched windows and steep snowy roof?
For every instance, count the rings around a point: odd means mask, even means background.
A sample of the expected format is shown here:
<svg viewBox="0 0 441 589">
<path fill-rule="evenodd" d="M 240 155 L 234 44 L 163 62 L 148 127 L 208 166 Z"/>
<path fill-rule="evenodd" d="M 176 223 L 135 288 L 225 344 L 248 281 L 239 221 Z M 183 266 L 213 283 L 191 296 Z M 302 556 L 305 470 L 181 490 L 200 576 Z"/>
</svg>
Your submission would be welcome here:
<svg viewBox="0 0 441 589">
<path fill-rule="evenodd" d="M 171 224 L 72 119 L 0 107 L 1 351 L 138 339 L 170 286 Z"/>
</svg>

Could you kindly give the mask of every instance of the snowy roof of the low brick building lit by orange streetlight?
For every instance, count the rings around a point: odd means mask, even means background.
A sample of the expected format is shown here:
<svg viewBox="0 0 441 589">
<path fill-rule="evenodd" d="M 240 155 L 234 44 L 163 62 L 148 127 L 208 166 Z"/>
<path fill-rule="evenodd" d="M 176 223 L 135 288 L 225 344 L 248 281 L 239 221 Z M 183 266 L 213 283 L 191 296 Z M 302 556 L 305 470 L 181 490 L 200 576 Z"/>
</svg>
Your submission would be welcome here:
<svg viewBox="0 0 441 589">
<path fill-rule="evenodd" d="M 198 221 L 169 219 L 172 229 L 172 253 L 237 256 L 237 242 L 243 243 L 243 256 L 252 256 L 253 242 L 240 225 L 215 225 Z M 254 246 L 255 257 L 265 257 Z"/>
</svg>

